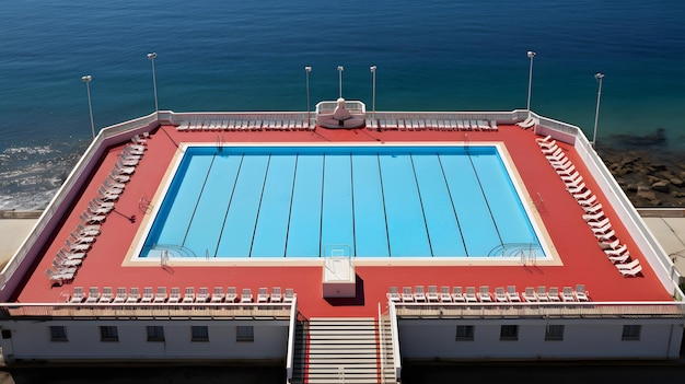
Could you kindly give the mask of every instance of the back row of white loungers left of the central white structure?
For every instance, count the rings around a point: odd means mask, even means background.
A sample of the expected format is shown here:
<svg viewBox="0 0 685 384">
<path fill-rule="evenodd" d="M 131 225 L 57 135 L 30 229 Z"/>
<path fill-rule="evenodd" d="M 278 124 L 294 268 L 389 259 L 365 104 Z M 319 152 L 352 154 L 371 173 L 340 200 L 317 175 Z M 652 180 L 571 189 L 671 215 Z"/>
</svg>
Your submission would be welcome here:
<svg viewBox="0 0 685 384">
<path fill-rule="evenodd" d="M 197 130 L 307 130 L 314 129 L 314 124 L 307 124 L 306 120 L 289 119 L 289 120 L 199 120 L 185 121 L 176 129 L 197 131 Z"/>
</svg>

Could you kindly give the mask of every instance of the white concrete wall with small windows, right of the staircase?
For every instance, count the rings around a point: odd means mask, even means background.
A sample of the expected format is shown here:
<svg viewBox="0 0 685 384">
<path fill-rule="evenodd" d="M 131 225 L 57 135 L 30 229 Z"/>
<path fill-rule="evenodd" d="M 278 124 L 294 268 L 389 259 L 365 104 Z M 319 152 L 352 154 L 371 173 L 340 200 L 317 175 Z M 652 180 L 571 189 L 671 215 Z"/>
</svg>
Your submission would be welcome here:
<svg viewBox="0 0 685 384">
<path fill-rule="evenodd" d="M 501 325 L 519 325 L 518 340 L 500 340 Z M 564 324 L 564 340 L 546 341 L 547 324 Z M 639 340 L 622 340 L 623 325 L 641 325 Z M 473 341 L 456 326 L 473 325 Z M 677 319 L 399 319 L 404 359 L 675 359 L 683 337 Z"/>
</svg>

